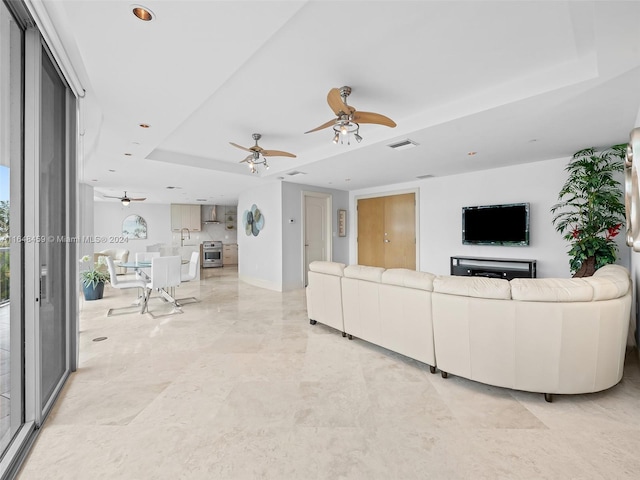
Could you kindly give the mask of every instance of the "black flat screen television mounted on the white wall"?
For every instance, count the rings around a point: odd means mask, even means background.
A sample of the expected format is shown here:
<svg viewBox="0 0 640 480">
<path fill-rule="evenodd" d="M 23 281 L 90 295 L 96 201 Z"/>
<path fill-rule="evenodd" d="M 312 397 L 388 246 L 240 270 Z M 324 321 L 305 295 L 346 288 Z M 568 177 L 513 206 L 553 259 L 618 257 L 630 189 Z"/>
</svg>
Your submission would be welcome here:
<svg viewBox="0 0 640 480">
<path fill-rule="evenodd" d="M 529 204 L 462 207 L 464 245 L 529 245 Z"/>
</svg>

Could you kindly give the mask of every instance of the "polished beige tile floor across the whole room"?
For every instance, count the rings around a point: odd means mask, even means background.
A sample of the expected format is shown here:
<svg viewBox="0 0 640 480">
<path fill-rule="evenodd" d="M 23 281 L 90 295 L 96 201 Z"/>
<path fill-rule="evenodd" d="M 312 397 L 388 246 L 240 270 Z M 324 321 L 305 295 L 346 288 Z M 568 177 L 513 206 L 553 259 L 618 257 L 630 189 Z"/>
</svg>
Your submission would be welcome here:
<svg viewBox="0 0 640 480">
<path fill-rule="evenodd" d="M 105 316 L 131 291 L 84 303 L 80 368 L 20 480 L 640 478 L 636 351 L 619 385 L 549 404 L 311 326 L 301 290 L 225 268 L 189 295 L 158 318 Z"/>
</svg>

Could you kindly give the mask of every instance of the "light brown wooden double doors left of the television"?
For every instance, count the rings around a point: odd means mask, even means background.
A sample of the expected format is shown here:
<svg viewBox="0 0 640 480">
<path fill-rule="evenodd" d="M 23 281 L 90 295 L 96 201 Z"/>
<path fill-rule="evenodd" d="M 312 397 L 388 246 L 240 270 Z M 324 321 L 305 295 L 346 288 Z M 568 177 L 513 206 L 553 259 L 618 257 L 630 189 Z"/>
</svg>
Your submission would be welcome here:
<svg viewBox="0 0 640 480">
<path fill-rule="evenodd" d="M 416 268 L 415 194 L 358 200 L 358 263 Z"/>
</svg>

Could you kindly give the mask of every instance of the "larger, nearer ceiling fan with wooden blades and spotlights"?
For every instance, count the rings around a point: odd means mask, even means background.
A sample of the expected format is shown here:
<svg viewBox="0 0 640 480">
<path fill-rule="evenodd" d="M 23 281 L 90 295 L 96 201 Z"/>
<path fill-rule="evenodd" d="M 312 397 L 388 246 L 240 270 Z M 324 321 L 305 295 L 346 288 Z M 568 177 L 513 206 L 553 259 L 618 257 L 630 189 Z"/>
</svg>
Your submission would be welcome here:
<svg viewBox="0 0 640 480">
<path fill-rule="evenodd" d="M 314 128 L 313 130 L 309 130 L 304 133 L 316 132 L 318 130 L 322 130 L 323 128 L 333 126 L 333 131 L 335 135 L 333 137 L 333 143 L 344 143 L 344 140 L 341 139 L 346 137 L 347 144 L 350 144 L 350 135 L 353 133 L 354 138 L 358 143 L 362 141 L 362 137 L 360 136 L 360 124 L 361 123 L 375 123 L 378 125 L 385 125 L 387 127 L 395 127 L 396 122 L 391 120 L 389 117 L 385 117 L 379 113 L 373 112 L 359 112 L 352 107 L 351 105 L 347 105 L 347 97 L 351 94 L 351 87 L 341 87 L 341 88 L 332 88 L 329 90 L 327 94 L 327 103 L 331 107 L 331 110 L 337 115 L 333 120 L 329 120 L 326 123 L 323 123 L 319 127 Z"/>
</svg>

